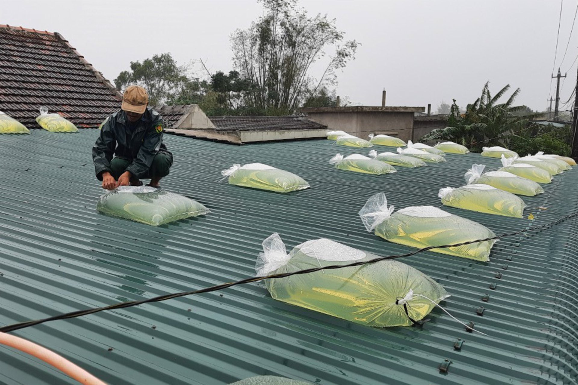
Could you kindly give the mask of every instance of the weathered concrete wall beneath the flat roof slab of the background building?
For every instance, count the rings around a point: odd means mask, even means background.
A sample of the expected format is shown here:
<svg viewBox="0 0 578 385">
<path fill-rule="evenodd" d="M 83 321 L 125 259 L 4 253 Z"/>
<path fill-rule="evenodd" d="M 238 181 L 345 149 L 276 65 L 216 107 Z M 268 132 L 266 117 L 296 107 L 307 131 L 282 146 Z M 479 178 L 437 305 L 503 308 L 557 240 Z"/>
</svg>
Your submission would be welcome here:
<svg viewBox="0 0 578 385">
<path fill-rule="evenodd" d="M 343 130 L 362 139 L 370 133 L 412 139 L 413 112 L 357 111 L 357 112 L 308 112 L 307 118 L 327 125 L 328 130 Z"/>
</svg>

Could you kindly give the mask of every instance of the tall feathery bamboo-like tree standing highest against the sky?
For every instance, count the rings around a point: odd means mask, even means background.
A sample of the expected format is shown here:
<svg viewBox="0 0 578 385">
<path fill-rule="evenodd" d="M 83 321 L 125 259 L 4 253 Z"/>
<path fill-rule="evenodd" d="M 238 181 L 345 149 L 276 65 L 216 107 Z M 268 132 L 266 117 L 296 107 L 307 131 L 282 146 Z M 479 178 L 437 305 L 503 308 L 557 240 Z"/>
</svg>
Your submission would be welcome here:
<svg viewBox="0 0 578 385">
<path fill-rule="evenodd" d="M 261 0 L 264 15 L 231 36 L 234 64 L 255 85 L 246 102 L 262 111 L 292 113 L 323 87 L 336 84 L 336 72 L 354 59 L 358 43 L 343 42 L 335 20 L 307 16 L 297 0 Z M 331 53 L 328 53 L 331 50 Z M 324 70 L 312 68 L 324 61 Z"/>
</svg>

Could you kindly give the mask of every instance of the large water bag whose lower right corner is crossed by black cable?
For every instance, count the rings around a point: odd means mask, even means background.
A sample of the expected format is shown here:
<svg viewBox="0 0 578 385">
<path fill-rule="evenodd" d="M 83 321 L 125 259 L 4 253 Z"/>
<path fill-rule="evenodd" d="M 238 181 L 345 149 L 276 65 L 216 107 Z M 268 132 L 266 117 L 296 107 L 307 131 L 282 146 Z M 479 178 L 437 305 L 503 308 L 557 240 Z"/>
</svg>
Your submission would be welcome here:
<svg viewBox="0 0 578 385">
<path fill-rule="evenodd" d="M 368 199 L 359 214 L 369 232 L 375 230 L 378 237 L 418 249 L 495 237 L 487 227 L 433 206 L 406 207 L 392 214 L 393 211 L 393 206 L 387 207 L 386 195 L 378 193 Z M 494 242 L 475 242 L 431 251 L 488 261 Z"/>
</svg>

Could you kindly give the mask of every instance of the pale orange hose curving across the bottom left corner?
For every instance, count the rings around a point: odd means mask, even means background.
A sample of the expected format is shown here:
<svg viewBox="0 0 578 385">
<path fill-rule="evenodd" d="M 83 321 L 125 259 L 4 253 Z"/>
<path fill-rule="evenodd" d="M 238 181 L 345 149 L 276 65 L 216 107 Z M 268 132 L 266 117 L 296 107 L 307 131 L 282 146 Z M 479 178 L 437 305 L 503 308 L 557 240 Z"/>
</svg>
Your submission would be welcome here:
<svg viewBox="0 0 578 385">
<path fill-rule="evenodd" d="M 36 343 L 30 342 L 24 338 L 0 332 L 0 344 L 13 347 L 14 349 L 21 350 L 24 353 L 39 358 L 53 367 L 60 369 L 60 371 L 77 380 L 81 384 L 106 385 L 106 383 L 73 364 L 71 361 L 66 360 L 66 358 L 46 349 L 46 347 L 36 345 Z"/>
</svg>

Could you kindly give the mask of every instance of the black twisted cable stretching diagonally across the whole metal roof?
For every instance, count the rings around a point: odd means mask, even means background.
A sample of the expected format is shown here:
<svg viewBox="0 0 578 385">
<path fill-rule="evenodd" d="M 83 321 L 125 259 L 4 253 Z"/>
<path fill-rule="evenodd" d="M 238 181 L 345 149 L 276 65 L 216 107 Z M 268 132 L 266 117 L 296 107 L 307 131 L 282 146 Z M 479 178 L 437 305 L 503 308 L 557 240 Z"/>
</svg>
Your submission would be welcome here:
<svg viewBox="0 0 578 385">
<path fill-rule="evenodd" d="M 450 248 L 450 247 L 469 245 L 469 244 L 473 244 L 473 243 L 477 243 L 477 242 L 499 240 L 500 238 L 503 238 L 503 237 L 510 237 L 510 236 L 515 236 L 515 235 L 520 234 L 520 233 L 524 233 L 525 231 L 539 230 L 539 229 L 543 229 L 544 227 L 557 225 L 558 223 L 560 223 L 566 219 L 570 219 L 570 218 L 577 216 L 577 215 L 578 215 L 578 212 L 575 212 L 574 214 L 563 216 L 560 219 L 554 220 L 553 222 L 546 223 L 545 225 L 542 225 L 542 226 L 529 227 L 528 229 L 524 228 L 522 230 L 518 230 L 518 231 L 515 231 L 513 233 L 505 233 L 505 234 L 502 234 L 500 236 L 485 238 L 483 240 L 467 241 L 467 242 L 461 242 L 459 244 L 453 244 L 453 245 L 428 246 L 428 247 L 424 247 L 422 249 L 418 249 L 416 251 L 405 253 L 405 254 L 377 257 L 377 258 L 371 259 L 369 261 L 353 262 L 353 263 L 349 263 L 346 265 L 331 265 L 331 266 L 324 266 L 324 267 L 314 267 L 314 268 L 309 268 L 309 269 L 305 269 L 305 270 L 299 270 L 299 271 L 287 272 L 287 273 L 281 273 L 281 274 L 272 274 L 272 275 L 266 275 L 266 276 L 253 276 L 253 277 L 245 278 L 245 279 L 242 279 L 242 280 L 236 281 L 236 282 L 221 283 L 221 285 L 205 287 L 205 289 L 199 289 L 199 290 L 194 290 L 194 291 L 183 291 L 181 293 L 165 294 L 164 296 L 153 297 L 153 298 L 149 298 L 148 300 L 119 302 L 117 304 L 103 306 L 102 308 L 93 308 L 93 309 L 79 310 L 79 311 L 70 312 L 70 313 L 64 313 L 64 314 L 60 314 L 57 316 L 47 317 L 44 319 L 39 319 L 39 320 L 34 320 L 34 321 L 26 321 L 26 322 L 21 322 L 21 323 L 15 323 L 15 324 L 8 325 L 8 326 L 3 326 L 0 328 L 0 332 L 10 332 L 10 331 L 18 330 L 18 329 L 23 329 L 25 327 L 30 327 L 30 326 L 38 325 L 41 323 L 49 322 L 49 321 L 64 320 L 64 319 L 69 319 L 69 318 L 86 316 L 86 315 L 89 315 L 92 313 L 98 313 L 98 312 L 102 312 L 105 310 L 129 308 L 131 306 L 147 304 L 149 302 L 160 302 L 160 301 L 171 300 L 172 298 L 190 296 L 191 294 L 209 293 L 210 291 L 223 290 L 223 289 L 227 289 L 228 287 L 231 287 L 231 286 L 241 285 L 242 283 L 251 283 L 251 282 L 261 281 L 262 279 L 285 278 L 285 277 L 291 276 L 291 275 L 308 274 L 308 273 L 312 273 L 312 272 L 316 272 L 316 271 L 320 271 L 320 270 L 324 270 L 324 269 L 332 270 L 332 269 L 339 269 L 339 268 L 344 268 L 344 267 L 362 266 L 365 264 L 376 263 L 376 262 L 380 262 L 380 261 L 387 260 L 387 259 L 409 257 L 412 255 L 416 255 L 417 253 L 421 253 L 421 252 L 428 251 L 431 249 Z"/>
</svg>

